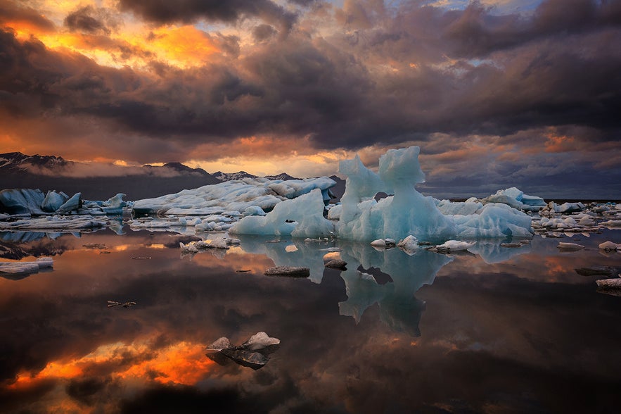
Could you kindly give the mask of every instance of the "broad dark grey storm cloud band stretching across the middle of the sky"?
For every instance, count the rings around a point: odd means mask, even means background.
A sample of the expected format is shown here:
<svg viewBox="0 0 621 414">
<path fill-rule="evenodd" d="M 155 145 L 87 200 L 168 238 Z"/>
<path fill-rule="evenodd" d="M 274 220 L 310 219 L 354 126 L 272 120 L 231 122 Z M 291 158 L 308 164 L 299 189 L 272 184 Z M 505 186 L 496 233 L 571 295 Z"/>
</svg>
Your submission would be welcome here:
<svg viewBox="0 0 621 414">
<path fill-rule="evenodd" d="M 571 20 L 577 32 L 554 24 L 565 20 L 554 14 L 560 12 L 551 2 L 530 19 L 490 15 L 477 4 L 465 11 L 411 8 L 394 19 L 385 15 L 355 38 L 292 34 L 257 46 L 241 61 L 160 71 L 158 82 L 127 69 L 72 64 L 36 42 L 20 44 L 5 33 L 3 56 L 13 62 L 0 82 L 11 83 L 3 88 L 9 92 L 38 94 L 41 106 L 54 106 L 62 96 L 57 108 L 62 113 L 89 113 L 138 133 L 176 132 L 179 139 L 186 134 L 299 134 L 310 135 L 319 146 L 355 148 L 424 139 L 432 132 L 504 135 L 546 125 L 584 125 L 610 137 L 621 127 L 616 116 L 621 30 L 610 4 L 578 3 L 592 13 L 568 18 L 581 19 L 582 25 Z M 144 7 L 150 11 L 144 13 L 157 15 L 155 3 L 137 4 L 124 7 Z M 213 7 L 175 5 L 178 14 L 172 18 Z M 244 11 L 250 7 L 243 5 Z M 225 18 L 233 13 L 230 7 L 213 13 Z M 88 19 L 87 12 L 79 9 L 66 22 L 100 30 L 99 20 Z M 603 21 L 608 23 L 598 24 Z M 422 39 L 423 23 L 429 41 Z M 260 40 L 271 33 L 267 25 L 255 29 Z M 222 38 L 220 44 L 236 59 L 237 39 Z M 447 61 L 452 51 L 468 51 L 468 58 Z M 85 77 L 97 81 L 80 81 Z M 77 84 L 82 87 L 76 89 Z"/>
</svg>

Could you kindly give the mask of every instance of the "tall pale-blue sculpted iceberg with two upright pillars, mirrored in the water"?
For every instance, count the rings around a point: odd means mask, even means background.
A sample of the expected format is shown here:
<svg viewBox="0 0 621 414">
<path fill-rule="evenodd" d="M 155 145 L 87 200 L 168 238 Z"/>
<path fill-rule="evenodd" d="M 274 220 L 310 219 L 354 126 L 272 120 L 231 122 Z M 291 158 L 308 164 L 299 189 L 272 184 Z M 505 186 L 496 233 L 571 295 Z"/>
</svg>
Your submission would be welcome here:
<svg viewBox="0 0 621 414">
<path fill-rule="evenodd" d="M 339 172 L 347 175 L 347 180 L 339 220 L 333 230 L 328 224 L 330 220 L 324 219 L 318 211 L 321 208 L 319 194 L 307 194 L 302 200 L 283 201 L 278 210 L 274 208 L 264 217 L 243 218 L 233 224 L 230 231 L 293 237 L 333 234 L 340 239 L 357 241 L 387 237 L 398 240 L 409 235 L 430 241 L 532 236 L 530 216 L 507 203 L 484 205 L 468 201 L 453 205 L 417 192 L 414 186 L 425 181 L 418 163 L 419 153 L 418 146 L 391 149 L 380 157 L 378 173 L 366 168 L 357 156 L 341 161 Z M 378 192 L 394 195 L 376 201 L 374 196 Z M 504 192 L 512 200 L 524 199 L 518 189 Z M 520 204 L 525 205 L 521 201 Z"/>
</svg>

